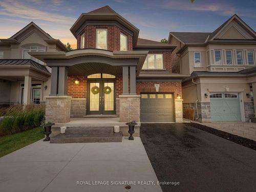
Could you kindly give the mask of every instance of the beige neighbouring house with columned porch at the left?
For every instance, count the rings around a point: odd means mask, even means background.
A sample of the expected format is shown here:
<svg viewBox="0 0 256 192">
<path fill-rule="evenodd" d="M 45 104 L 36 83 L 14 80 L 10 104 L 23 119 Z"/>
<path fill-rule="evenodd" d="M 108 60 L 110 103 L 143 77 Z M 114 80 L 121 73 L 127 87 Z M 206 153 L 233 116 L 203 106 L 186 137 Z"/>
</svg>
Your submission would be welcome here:
<svg viewBox="0 0 256 192">
<path fill-rule="evenodd" d="M 0 104 L 45 102 L 51 68 L 29 52 L 67 51 L 33 22 L 7 39 L 0 39 Z"/>
</svg>

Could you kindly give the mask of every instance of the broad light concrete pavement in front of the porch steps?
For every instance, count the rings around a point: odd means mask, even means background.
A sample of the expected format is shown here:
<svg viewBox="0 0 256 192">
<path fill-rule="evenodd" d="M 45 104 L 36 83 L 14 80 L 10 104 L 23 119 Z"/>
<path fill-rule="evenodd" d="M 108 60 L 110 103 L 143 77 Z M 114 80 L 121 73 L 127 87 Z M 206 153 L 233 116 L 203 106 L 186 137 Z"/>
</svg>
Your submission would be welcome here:
<svg viewBox="0 0 256 192">
<path fill-rule="evenodd" d="M 0 158 L 0 191 L 128 191 L 124 183 L 112 181 L 135 181 L 129 191 L 162 191 L 139 137 L 123 137 L 121 143 L 40 140 Z"/>
</svg>

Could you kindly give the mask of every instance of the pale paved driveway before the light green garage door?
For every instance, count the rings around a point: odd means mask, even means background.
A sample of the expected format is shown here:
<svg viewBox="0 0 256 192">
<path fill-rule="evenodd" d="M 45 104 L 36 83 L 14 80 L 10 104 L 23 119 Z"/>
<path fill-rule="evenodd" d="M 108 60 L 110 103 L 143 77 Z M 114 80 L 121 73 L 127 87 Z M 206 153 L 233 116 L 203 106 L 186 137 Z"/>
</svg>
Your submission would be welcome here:
<svg viewBox="0 0 256 192">
<path fill-rule="evenodd" d="M 196 122 L 199 123 L 199 122 Z M 256 141 L 256 123 L 249 122 L 212 122 L 199 123 L 214 129 Z"/>
</svg>

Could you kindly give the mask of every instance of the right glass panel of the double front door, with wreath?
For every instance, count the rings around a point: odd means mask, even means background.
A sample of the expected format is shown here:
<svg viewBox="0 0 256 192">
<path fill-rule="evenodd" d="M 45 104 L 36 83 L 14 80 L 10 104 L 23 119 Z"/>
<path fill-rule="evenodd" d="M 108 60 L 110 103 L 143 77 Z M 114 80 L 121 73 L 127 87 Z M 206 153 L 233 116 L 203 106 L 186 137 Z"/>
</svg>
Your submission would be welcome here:
<svg viewBox="0 0 256 192">
<path fill-rule="evenodd" d="M 104 111 L 114 111 L 114 82 L 104 82 Z"/>
</svg>

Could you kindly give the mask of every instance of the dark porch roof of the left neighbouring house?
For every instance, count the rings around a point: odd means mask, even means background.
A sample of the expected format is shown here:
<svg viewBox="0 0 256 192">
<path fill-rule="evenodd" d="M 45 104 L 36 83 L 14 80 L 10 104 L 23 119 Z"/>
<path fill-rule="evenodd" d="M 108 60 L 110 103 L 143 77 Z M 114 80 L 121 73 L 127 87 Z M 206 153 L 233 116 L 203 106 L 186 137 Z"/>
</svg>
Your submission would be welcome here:
<svg viewBox="0 0 256 192">
<path fill-rule="evenodd" d="M 0 59 L 0 67 L 1 66 L 33 66 L 40 71 L 50 74 L 45 66 L 42 66 L 31 59 Z"/>
</svg>

